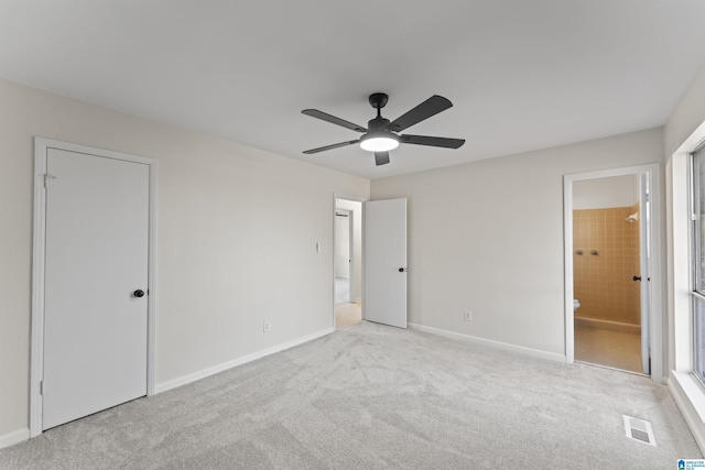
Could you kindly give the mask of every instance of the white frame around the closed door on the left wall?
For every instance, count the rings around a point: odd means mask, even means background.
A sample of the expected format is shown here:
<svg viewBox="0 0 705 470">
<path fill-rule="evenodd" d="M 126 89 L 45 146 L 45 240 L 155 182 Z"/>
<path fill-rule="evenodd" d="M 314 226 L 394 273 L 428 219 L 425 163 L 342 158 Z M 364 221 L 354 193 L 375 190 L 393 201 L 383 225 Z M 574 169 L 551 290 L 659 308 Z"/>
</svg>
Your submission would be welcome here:
<svg viewBox="0 0 705 470">
<path fill-rule="evenodd" d="M 34 139 L 34 227 L 32 242 L 32 331 L 30 362 L 30 437 L 42 434 L 42 391 L 44 376 L 44 272 L 46 264 L 46 161 L 48 149 L 85 153 L 135 162 L 150 168 L 149 260 L 148 260 L 148 338 L 147 338 L 147 395 L 154 394 L 155 380 L 155 316 L 156 316 L 156 160 L 129 155 L 109 150 L 61 142 L 52 139 Z"/>
</svg>

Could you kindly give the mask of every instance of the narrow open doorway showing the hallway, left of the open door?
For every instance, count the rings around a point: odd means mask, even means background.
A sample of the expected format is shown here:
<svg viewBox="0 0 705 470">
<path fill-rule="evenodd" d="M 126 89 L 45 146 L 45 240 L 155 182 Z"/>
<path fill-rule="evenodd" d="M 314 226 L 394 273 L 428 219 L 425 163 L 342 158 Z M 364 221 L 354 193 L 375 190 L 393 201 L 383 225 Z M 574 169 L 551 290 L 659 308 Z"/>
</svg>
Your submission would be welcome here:
<svg viewBox="0 0 705 470">
<path fill-rule="evenodd" d="M 336 198 L 334 226 L 335 328 L 362 319 L 362 203 Z"/>
</svg>

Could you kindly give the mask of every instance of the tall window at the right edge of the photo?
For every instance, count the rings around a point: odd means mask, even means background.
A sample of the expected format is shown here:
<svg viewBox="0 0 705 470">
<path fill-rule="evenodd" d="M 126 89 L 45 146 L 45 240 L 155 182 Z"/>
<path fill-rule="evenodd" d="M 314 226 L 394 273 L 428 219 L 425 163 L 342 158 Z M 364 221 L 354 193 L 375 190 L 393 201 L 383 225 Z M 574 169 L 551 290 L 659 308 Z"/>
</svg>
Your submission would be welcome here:
<svg viewBox="0 0 705 470">
<path fill-rule="evenodd" d="M 693 367 L 705 383 L 705 147 L 693 153 L 691 164 L 693 214 Z"/>
</svg>

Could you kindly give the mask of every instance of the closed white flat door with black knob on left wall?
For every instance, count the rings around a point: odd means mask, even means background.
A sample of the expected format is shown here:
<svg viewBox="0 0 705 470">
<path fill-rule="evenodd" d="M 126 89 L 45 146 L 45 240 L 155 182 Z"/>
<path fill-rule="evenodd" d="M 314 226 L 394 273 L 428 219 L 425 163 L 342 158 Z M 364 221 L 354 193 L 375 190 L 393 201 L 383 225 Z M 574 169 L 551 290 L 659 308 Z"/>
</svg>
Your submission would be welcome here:
<svg viewBox="0 0 705 470">
<path fill-rule="evenodd" d="M 43 429 L 147 394 L 150 200 L 147 164 L 46 159 Z"/>
</svg>

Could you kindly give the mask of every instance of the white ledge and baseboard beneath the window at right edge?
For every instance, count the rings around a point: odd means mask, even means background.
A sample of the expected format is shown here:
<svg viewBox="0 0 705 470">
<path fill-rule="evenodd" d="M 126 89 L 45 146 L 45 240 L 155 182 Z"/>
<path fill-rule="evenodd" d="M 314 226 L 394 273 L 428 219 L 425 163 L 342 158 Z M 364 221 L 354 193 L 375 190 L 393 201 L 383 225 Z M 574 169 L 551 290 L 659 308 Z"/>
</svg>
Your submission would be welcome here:
<svg viewBox="0 0 705 470">
<path fill-rule="evenodd" d="M 671 371 L 666 385 L 697 447 L 705 455 L 705 394 L 695 379 L 685 372 Z"/>
</svg>

